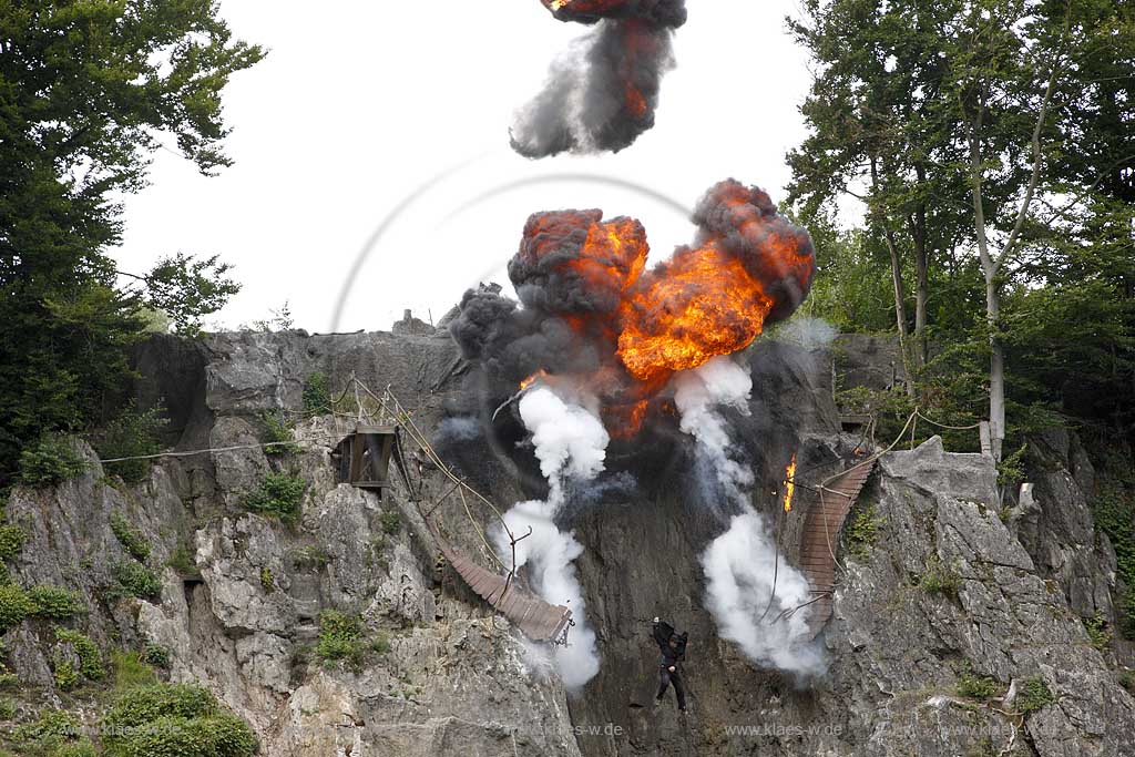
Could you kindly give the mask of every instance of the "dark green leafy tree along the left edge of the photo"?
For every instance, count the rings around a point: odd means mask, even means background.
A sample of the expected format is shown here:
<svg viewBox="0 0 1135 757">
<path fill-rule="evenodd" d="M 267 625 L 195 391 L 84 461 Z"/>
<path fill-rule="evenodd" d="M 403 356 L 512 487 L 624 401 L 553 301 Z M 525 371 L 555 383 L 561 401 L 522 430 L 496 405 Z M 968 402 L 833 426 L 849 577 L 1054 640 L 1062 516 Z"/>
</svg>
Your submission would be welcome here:
<svg viewBox="0 0 1135 757">
<path fill-rule="evenodd" d="M 234 291 L 184 256 L 124 289 L 107 253 L 162 140 L 229 163 L 220 94 L 262 54 L 210 0 L 0 3 L 0 482 L 30 440 L 104 415 L 143 306 L 188 328 Z"/>
</svg>

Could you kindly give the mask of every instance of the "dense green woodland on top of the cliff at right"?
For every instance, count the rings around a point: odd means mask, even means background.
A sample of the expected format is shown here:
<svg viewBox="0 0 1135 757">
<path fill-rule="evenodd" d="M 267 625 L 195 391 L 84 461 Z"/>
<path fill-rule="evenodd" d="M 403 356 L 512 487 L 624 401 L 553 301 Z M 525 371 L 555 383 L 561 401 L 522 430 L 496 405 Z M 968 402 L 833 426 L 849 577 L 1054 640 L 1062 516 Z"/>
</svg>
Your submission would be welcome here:
<svg viewBox="0 0 1135 757">
<path fill-rule="evenodd" d="M 1059 424 L 1129 443 L 1135 6 L 806 0 L 789 25 L 815 73 L 788 155 L 805 311 L 898 336 L 911 380 L 876 402 L 1000 420 L 1003 456 Z"/>
</svg>

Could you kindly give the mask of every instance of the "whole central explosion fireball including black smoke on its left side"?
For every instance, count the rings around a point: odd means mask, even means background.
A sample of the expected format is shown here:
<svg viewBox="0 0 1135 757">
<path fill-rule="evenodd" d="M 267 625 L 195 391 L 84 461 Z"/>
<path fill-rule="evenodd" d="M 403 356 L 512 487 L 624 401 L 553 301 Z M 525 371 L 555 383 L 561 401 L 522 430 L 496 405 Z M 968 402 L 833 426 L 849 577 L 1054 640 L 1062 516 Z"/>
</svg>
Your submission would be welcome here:
<svg viewBox="0 0 1135 757">
<path fill-rule="evenodd" d="M 566 381 L 599 399 L 611 436 L 633 436 L 676 371 L 743 350 L 812 285 L 807 232 L 763 190 L 722 182 L 692 220 L 695 243 L 647 270 L 646 229 L 634 219 L 531 216 L 508 263 L 520 303 L 494 287 L 466 292 L 451 325 L 463 355 L 505 396 L 533 376 Z"/>
</svg>

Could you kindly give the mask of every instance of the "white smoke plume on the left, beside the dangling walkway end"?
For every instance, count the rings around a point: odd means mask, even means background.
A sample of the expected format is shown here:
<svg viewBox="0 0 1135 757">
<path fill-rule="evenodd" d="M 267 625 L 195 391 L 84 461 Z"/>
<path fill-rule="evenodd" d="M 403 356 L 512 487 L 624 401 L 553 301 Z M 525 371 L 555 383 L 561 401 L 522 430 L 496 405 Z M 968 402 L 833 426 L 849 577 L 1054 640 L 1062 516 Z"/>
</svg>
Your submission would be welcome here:
<svg viewBox="0 0 1135 757">
<path fill-rule="evenodd" d="M 545 602 L 566 605 L 572 611 L 575 626 L 569 634 L 569 646 L 556 647 L 553 654 L 564 685 L 577 689 L 599 672 L 599 654 L 595 631 L 587 624 L 583 591 L 572 564 L 583 554 L 583 546 L 570 531 L 561 531 L 555 518 L 564 504 L 564 482 L 588 481 L 598 476 L 611 438 L 591 411 L 564 402 L 543 386 L 521 397 L 520 417 L 532 434 L 536 457 L 550 493 L 547 502 L 533 499 L 514 505 L 504 520 L 516 537 L 528 533 L 529 528 L 532 530 L 531 536 L 516 542 L 516 567 L 528 566 L 532 588 Z M 511 554 L 503 529 L 495 533 L 495 540 L 501 554 Z"/>
</svg>

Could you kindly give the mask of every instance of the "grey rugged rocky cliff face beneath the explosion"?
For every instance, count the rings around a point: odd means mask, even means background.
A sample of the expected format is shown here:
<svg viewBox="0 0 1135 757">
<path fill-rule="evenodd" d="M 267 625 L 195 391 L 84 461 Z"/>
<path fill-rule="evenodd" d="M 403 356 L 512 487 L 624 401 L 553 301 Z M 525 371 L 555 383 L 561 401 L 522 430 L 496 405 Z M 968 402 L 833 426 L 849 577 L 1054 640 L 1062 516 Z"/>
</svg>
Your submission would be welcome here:
<svg viewBox="0 0 1135 757">
<path fill-rule="evenodd" d="M 568 692 L 532 645 L 438 566 L 401 486 L 379 499 L 336 483 L 330 452 L 345 427 L 303 419 L 304 381 L 317 372 L 333 389 L 351 375 L 389 386 L 423 428 L 477 410 L 477 376 L 449 339 L 402 331 L 151 342 L 138 355 L 138 397 L 163 398 L 177 449 L 215 452 L 166 459 L 136 487 L 93 463 L 56 489 L 16 491 L 8 519 L 30 538 L 12 574 L 79 591 L 90 606 L 81 625 L 103 648 L 168 649 L 170 678 L 204 682 L 274 756 L 1135 754 L 1135 701 L 1082 622 L 1113 620 L 1115 555 L 1091 521 L 1091 465 L 1068 437 L 1037 441 L 1048 462 L 1011 508 L 980 455 L 931 440 L 884 456 L 838 552 L 833 617 L 818 641 L 829 672 L 809 681 L 762 670 L 717 637 L 699 557 L 723 523 L 683 435 L 663 422 L 648 444 L 615 445 L 608 468 L 621 483 L 583 497 L 562 524 L 586 546 L 577 566 L 603 656 L 600 673 Z M 801 471 L 847 454 L 857 439 L 840 436 L 826 354 L 765 343 L 748 359 L 753 412 L 732 420 L 757 491 L 775 488 L 792 451 Z M 297 419 L 296 451 L 255 446 L 266 412 Z M 530 453 L 513 445 L 515 426 L 505 417 L 495 432 L 442 439 L 505 506 L 543 494 Z M 446 487 L 422 470 L 428 501 Z M 274 472 L 306 482 L 292 525 L 243 504 Z M 800 491 L 783 519 L 790 561 L 813 504 Z M 775 522 L 775 497 L 756 505 Z M 117 516 L 151 545 L 160 597 L 108 590 L 132 560 Z M 460 507 L 438 516 L 457 548 L 488 564 Z M 358 665 L 319 658 L 328 611 L 361 619 Z M 686 718 L 672 700 L 650 707 L 654 615 L 691 634 Z M 36 621 L 5 644 L 28 707 L 96 707 L 56 690 L 53 647 Z"/>
</svg>

